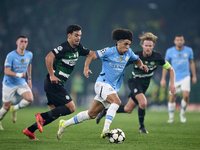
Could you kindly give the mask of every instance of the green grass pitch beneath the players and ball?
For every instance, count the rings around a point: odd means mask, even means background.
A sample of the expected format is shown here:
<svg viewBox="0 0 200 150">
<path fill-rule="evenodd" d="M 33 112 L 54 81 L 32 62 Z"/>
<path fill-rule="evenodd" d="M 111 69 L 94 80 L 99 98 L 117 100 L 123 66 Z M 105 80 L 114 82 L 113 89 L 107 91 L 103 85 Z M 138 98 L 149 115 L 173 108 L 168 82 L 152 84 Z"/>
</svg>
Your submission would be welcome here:
<svg viewBox="0 0 200 150">
<path fill-rule="evenodd" d="M 43 133 L 35 132 L 38 141 L 30 140 L 23 130 L 34 123 L 35 113 L 48 111 L 47 107 L 29 107 L 18 111 L 17 122 L 12 123 L 11 113 L 2 120 L 4 130 L 0 130 L 0 150 L 197 150 L 200 149 L 200 113 L 187 112 L 187 122 L 180 123 L 179 112 L 175 121 L 167 123 L 168 113 L 146 111 L 145 125 L 149 134 L 140 134 L 137 109 L 132 114 L 115 116 L 110 129 L 120 128 L 126 139 L 123 144 L 111 144 L 108 138 L 101 139 L 104 119 L 97 125 L 96 120 L 70 126 L 61 140 L 57 140 L 58 121 L 69 119 L 85 109 L 60 117 L 43 128 Z"/>
</svg>

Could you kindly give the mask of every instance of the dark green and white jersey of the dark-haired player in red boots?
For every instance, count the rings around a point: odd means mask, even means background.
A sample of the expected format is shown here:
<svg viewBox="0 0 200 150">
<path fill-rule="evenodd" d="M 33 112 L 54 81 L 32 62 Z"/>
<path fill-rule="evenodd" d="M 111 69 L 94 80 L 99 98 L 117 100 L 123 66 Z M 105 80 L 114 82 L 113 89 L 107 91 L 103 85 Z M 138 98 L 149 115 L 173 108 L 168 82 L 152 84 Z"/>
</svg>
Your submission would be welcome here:
<svg viewBox="0 0 200 150">
<path fill-rule="evenodd" d="M 86 56 L 89 52 L 90 50 L 84 48 L 81 44 L 72 48 L 68 41 L 52 50 L 55 55 L 53 63 L 54 75 L 61 80 L 63 85 L 65 85 L 72 73 L 79 56 Z"/>
</svg>

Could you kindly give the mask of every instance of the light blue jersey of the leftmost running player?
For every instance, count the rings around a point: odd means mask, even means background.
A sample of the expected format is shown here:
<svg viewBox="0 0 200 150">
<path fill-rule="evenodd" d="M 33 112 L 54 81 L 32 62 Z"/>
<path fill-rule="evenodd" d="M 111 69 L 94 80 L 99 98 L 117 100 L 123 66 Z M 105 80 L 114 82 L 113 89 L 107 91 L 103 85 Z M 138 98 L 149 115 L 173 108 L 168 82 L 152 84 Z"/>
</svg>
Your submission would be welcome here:
<svg viewBox="0 0 200 150">
<path fill-rule="evenodd" d="M 33 53 L 30 51 L 25 50 L 24 55 L 19 55 L 16 50 L 11 51 L 8 53 L 4 67 L 10 67 L 11 71 L 16 73 L 22 73 L 27 70 L 28 65 L 32 62 Z M 18 85 L 22 85 L 26 82 L 25 78 L 19 77 L 10 77 L 4 75 L 3 84 L 9 87 L 15 87 Z"/>
</svg>

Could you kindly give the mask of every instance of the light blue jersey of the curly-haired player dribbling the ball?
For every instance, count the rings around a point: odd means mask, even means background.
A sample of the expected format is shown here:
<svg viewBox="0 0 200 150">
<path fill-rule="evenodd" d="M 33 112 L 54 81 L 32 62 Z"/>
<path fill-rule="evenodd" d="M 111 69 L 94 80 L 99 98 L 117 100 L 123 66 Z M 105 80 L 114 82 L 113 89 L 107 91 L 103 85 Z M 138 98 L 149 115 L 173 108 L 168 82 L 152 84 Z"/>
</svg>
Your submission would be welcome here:
<svg viewBox="0 0 200 150">
<path fill-rule="evenodd" d="M 99 59 L 102 59 L 102 71 L 96 82 L 108 83 L 116 92 L 121 87 L 128 61 L 136 61 L 139 58 L 131 48 L 124 55 L 120 55 L 116 46 L 97 50 L 96 55 Z"/>
</svg>

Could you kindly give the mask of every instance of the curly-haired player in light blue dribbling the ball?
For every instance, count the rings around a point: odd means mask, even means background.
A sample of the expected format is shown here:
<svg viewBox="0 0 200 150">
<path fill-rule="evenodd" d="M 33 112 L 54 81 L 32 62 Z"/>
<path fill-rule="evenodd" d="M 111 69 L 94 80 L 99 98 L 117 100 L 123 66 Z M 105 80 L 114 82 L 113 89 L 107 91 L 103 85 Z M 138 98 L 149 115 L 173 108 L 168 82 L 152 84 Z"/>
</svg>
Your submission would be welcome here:
<svg viewBox="0 0 200 150">
<path fill-rule="evenodd" d="M 102 59 L 102 71 L 95 83 L 96 96 L 89 110 L 82 111 L 69 120 L 59 121 L 59 130 L 57 133 L 57 138 L 59 140 L 67 127 L 85 120 L 94 119 L 105 108 L 108 108 L 108 111 L 101 138 L 109 137 L 110 124 L 121 104 L 117 92 L 122 84 L 126 64 L 128 61 L 135 61 L 135 64 L 140 69 L 148 71 L 147 66 L 143 65 L 138 55 L 135 55 L 130 48 L 130 44 L 133 40 L 133 33 L 130 30 L 115 29 L 112 32 L 112 39 L 117 40 L 116 46 L 97 50 L 96 53 L 87 57 L 83 72 L 86 78 L 89 77 L 88 73 L 92 73 L 89 69 L 91 61 Z"/>
</svg>

